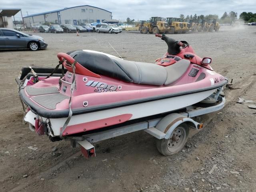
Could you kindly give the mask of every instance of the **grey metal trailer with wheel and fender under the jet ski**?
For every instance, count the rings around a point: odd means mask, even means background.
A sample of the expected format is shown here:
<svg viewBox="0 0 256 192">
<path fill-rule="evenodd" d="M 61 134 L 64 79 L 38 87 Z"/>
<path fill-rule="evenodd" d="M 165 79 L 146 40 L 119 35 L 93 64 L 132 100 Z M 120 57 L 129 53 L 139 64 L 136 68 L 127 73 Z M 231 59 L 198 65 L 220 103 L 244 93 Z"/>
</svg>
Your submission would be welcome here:
<svg viewBox="0 0 256 192">
<path fill-rule="evenodd" d="M 188 106 L 184 112 L 171 112 L 164 117 L 110 128 L 80 137 L 70 137 L 66 140 L 70 140 L 72 147 L 80 146 L 84 157 L 89 158 L 96 156 L 94 144 L 97 142 L 144 130 L 158 139 L 156 142 L 158 151 L 164 156 L 170 156 L 182 150 L 186 144 L 190 129 L 200 130 L 203 128 L 203 123 L 196 122 L 194 120 L 195 117 L 218 111 L 224 107 L 226 100 L 225 96 L 220 95 L 220 91 L 218 90 L 210 96 L 218 100 L 218 103 L 214 106 Z"/>
</svg>

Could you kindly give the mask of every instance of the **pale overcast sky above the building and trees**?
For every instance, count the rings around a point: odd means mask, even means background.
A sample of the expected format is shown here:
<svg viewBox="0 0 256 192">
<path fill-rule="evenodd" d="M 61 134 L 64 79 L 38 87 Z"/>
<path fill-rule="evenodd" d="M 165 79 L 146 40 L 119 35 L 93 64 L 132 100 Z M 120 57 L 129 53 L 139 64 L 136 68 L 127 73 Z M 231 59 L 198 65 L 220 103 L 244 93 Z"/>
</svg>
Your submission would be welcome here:
<svg viewBox="0 0 256 192">
<path fill-rule="evenodd" d="M 1 8 L 21 8 L 23 16 L 80 5 L 112 12 L 113 19 L 148 20 L 151 16 L 179 17 L 180 14 L 218 14 L 234 11 L 256 12 L 256 0 L 0 0 Z M 15 16 L 21 19 L 20 13 Z"/>
</svg>

